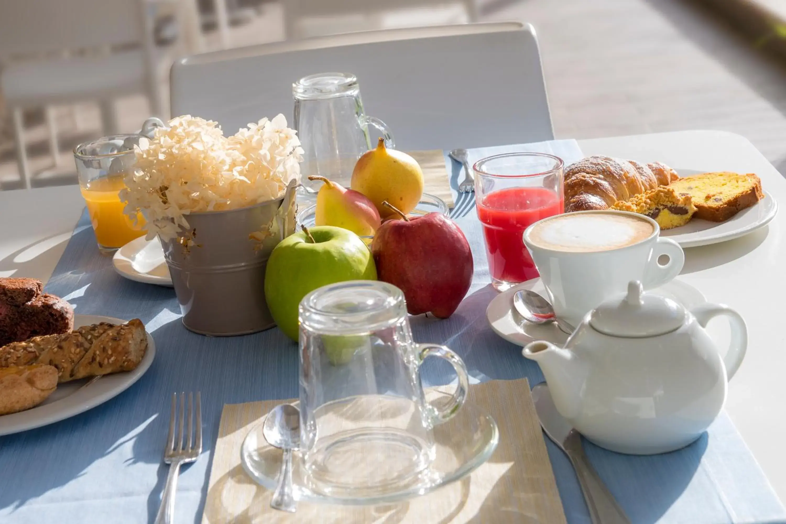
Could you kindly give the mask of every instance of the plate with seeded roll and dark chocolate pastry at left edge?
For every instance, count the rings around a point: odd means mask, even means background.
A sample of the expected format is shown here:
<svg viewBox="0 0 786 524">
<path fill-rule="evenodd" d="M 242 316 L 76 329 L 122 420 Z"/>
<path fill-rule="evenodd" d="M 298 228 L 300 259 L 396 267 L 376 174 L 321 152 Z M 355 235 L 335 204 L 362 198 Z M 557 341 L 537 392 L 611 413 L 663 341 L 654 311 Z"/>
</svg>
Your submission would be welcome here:
<svg viewBox="0 0 786 524">
<path fill-rule="evenodd" d="M 39 280 L 0 278 L 0 435 L 67 419 L 108 401 L 152 364 L 139 319 L 75 315 Z"/>
</svg>

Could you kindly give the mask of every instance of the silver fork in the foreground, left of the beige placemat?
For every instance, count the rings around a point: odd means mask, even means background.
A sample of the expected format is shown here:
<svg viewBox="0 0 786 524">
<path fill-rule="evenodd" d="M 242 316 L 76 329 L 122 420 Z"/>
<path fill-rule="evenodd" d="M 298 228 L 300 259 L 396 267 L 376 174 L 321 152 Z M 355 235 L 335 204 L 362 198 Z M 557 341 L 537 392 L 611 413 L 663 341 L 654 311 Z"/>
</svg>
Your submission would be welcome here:
<svg viewBox="0 0 786 524">
<path fill-rule="evenodd" d="M 196 392 L 196 440 L 192 439 L 192 423 L 194 416 L 193 393 L 189 393 L 189 425 L 188 434 L 183 432 L 185 420 L 185 393 L 180 394 L 180 418 L 178 431 L 175 433 L 174 423 L 178 419 L 178 394 L 172 394 L 172 414 L 169 418 L 169 436 L 167 449 L 163 452 L 163 461 L 169 464 L 167 484 L 163 487 L 161 505 L 156 515 L 156 524 L 171 524 L 174 522 L 174 495 L 178 490 L 178 474 L 180 466 L 193 462 L 202 453 L 202 404 L 199 391 Z M 185 437 L 185 440 L 184 440 Z M 192 442 L 193 441 L 193 442 Z"/>
</svg>

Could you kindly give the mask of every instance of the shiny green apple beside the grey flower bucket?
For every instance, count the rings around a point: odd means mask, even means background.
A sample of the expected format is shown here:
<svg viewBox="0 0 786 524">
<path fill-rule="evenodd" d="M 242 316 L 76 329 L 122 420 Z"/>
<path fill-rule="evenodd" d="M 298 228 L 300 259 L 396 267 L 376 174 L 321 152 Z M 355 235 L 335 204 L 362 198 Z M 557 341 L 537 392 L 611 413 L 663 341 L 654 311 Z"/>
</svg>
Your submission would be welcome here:
<svg viewBox="0 0 786 524">
<path fill-rule="evenodd" d="M 345 280 L 376 280 L 374 260 L 363 240 L 332 225 L 314 226 L 308 234 L 299 231 L 281 240 L 267 261 L 267 307 L 281 331 L 297 341 L 297 309 L 303 297 Z"/>
</svg>

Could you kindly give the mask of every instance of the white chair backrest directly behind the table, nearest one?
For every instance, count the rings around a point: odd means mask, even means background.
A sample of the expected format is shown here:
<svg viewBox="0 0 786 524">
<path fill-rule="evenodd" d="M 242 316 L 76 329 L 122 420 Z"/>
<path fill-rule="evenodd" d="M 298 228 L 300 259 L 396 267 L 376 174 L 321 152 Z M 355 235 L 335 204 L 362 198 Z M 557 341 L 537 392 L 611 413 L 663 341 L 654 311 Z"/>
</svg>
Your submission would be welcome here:
<svg viewBox="0 0 786 524">
<path fill-rule="evenodd" d="M 292 82 L 357 75 L 365 111 L 396 147 L 452 149 L 550 140 L 549 105 L 531 25 L 463 24 L 368 31 L 205 53 L 174 63 L 171 112 L 227 134 L 263 116 L 292 119 Z"/>
</svg>

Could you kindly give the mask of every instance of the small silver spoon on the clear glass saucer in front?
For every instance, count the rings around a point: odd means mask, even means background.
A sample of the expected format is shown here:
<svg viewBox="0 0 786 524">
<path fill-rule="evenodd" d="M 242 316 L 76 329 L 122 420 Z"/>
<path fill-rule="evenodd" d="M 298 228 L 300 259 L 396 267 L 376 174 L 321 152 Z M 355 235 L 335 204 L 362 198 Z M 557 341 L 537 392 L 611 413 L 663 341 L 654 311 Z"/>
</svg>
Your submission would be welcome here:
<svg viewBox="0 0 786 524">
<path fill-rule="evenodd" d="M 270 508 L 294 513 L 297 501 L 292 493 L 292 450 L 300 447 L 299 409 L 291 404 L 277 405 L 267 414 L 262 433 L 268 444 L 284 450 Z"/>
</svg>

